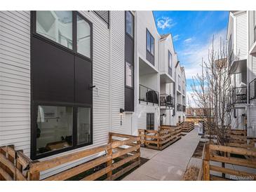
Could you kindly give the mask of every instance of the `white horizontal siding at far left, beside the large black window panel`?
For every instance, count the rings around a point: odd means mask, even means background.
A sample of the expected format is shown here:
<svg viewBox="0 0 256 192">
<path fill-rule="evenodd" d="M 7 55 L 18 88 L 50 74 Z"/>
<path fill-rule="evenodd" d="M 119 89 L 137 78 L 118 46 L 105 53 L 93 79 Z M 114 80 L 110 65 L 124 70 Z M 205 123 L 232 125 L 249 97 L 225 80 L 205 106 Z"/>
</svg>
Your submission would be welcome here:
<svg viewBox="0 0 256 192">
<path fill-rule="evenodd" d="M 0 146 L 30 154 L 30 15 L 0 12 Z"/>
</svg>

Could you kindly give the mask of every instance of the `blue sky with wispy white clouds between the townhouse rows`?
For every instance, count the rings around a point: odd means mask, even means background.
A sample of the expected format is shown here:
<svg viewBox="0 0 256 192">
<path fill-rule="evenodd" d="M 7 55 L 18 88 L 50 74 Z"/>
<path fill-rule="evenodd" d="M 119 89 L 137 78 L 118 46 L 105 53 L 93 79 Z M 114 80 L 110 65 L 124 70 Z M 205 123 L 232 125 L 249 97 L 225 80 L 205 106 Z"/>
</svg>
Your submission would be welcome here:
<svg viewBox="0 0 256 192">
<path fill-rule="evenodd" d="M 226 39 L 228 11 L 154 11 L 159 34 L 172 34 L 178 60 L 185 67 L 187 92 L 191 77 L 200 70 L 202 57 L 208 60 L 213 34 Z M 217 45 L 216 45 L 217 46 Z M 217 49 L 217 48 L 216 48 Z"/>
</svg>

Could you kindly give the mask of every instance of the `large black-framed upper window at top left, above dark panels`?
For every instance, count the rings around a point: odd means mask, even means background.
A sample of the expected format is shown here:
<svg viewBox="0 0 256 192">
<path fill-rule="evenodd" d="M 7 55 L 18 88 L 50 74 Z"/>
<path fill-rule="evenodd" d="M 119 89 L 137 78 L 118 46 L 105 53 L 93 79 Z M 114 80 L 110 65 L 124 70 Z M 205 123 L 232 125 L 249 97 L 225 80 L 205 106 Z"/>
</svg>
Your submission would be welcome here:
<svg viewBox="0 0 256 192">
<path fill-rule="evenodd" d="M 36 33 L 90 58 L 91 24 L 79 13 L 74 13 L 36 11 Z M 76 23 L 73 22 L 73 16 L 76 17 Z"/>
</svg>

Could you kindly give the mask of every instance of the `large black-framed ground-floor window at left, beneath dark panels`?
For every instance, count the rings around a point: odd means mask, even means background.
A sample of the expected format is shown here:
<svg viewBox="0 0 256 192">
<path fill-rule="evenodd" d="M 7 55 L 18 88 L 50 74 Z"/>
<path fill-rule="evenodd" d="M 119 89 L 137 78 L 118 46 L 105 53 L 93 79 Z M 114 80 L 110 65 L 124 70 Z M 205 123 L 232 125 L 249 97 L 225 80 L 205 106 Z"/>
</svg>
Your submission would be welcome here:
<svg viewBox="0 0 256 192">
<path fill-rule="evenodd" d="M 32 159 L 93 143 L 91 107 L 43 103 L 36 104 L 35 108 Z"/>
</svg>

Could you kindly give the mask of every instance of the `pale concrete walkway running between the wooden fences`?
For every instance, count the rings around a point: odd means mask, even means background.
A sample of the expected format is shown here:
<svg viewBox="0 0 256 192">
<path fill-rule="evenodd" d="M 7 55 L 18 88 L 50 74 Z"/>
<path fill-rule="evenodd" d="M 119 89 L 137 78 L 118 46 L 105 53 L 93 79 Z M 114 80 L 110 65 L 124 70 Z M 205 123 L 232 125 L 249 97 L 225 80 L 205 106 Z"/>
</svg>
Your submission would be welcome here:
<svg viewBox="0 0 256 192">
<path fill-rule="evenodd" d="M 195 127 L 194 130 L 163 151 L 141 148 L 142 158 L 150 160 L 128 174 L 123 181 L 182 180 L 187 165 L 191 164 L 189 161 L 199 140 L 198 129 Z"/>
</svg>

